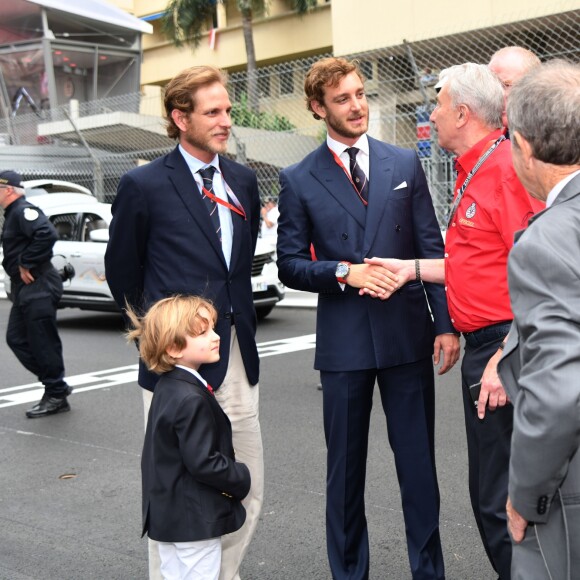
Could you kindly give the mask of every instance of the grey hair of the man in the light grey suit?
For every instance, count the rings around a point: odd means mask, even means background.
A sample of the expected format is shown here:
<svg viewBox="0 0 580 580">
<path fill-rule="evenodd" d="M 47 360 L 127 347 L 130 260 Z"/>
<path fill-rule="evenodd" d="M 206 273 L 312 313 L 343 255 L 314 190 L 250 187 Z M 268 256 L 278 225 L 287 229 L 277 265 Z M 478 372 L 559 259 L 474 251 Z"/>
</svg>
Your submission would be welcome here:
<svg viewBox="0 0 580 580">
<path fill-rule="evenodd" d="M 578 111 L 580 65 L 565 60 L 533 68 L 508 98 L 510 131 L 528 141 L 536 159 L 553 165 L 580 164 Z"/>
</svg>

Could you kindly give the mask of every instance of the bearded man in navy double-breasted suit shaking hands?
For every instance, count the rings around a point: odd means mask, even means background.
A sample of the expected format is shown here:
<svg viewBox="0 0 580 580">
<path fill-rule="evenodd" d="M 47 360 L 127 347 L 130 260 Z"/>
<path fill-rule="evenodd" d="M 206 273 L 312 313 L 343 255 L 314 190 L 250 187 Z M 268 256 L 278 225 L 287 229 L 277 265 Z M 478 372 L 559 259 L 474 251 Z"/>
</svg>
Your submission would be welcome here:
<svg viewBox="0 0 580 580">
<path fill-rule="evenodd" d="M 413 578 L 441 579 L 431 357 L 436 364 L 443 359 L 440 374 L 448 371 L 459 340 L 443 288 L 420 280 L 397 288 L 387 270 L 364 263 L 392 254 L 443 257 L 441 231 L 417 155 L 367 136 L 368 103 L 356 64 L 318 61 L 305 92 L 328 137 L 280 175 L 278 268 L 284 284 L 319 293 L 315 368 L 328 448 L 330 568 L 337 579 L 369 575 L 364 488 L 377 381 Z M 393 295 L 383 301 L 361 288 Z"/>
</svg>

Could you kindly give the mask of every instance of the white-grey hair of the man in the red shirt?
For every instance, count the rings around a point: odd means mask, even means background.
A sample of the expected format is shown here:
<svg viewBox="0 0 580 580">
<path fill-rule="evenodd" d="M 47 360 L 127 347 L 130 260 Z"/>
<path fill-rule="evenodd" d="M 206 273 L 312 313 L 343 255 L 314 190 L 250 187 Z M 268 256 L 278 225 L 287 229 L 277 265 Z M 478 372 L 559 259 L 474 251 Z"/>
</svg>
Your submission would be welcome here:
<svg viewBox="0 0 580 580">
<path fill-rule="evenodd" d="M 467 105 L 488 127 L 499 129 L 502 126 L 503 88 L 487 65 L 466 62 L 450 66 L 439 73 L 439 79 L 448 87 L 454 107 Z"/>
</svg>

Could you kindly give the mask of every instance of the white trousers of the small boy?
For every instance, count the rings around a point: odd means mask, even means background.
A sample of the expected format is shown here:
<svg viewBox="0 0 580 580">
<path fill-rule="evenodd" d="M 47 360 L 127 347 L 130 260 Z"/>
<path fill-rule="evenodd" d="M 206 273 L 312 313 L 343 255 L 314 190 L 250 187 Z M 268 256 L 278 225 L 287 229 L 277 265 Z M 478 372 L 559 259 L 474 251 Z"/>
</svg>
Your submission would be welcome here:
<svg viewBox="0 0 580 580">
<path fill-rule="evenodd" d="M 163 580 L 218 580 L 220 538 L 198 542 L 158 542 Z"/>
</svg>

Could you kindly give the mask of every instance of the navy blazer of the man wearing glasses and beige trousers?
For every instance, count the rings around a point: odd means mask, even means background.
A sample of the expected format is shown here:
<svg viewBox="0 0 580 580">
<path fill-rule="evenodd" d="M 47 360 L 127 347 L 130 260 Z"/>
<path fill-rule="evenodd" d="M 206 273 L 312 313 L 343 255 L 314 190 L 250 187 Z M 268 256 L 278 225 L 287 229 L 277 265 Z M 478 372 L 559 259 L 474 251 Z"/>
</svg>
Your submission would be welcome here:
<svg viewBox="0 0 580 580">
<path fill-rule="evenodd" d="M 219 158 L 226 183 L 246 213 L 232 212 L 234 227 L 228 269 L 220 241 L 185 159 L 178 148 L 126 173 L 113 202 L 113 220 L 105 256 L 106 277 L 120 307 L 125 300 L 138 310 L 173 294 L 209 298 L 219 313 L 220 360 L 202 366 L 201 375 L 218 388 L 230 354 L 232 316 L 250 384 L 258 382 L 256 315 L 251 271 L 260 197 L 253 171 Z M 139 384 L 153 390 L 156 375 L 139 368 Z"/>
</svg>

